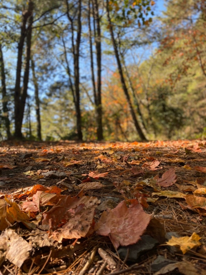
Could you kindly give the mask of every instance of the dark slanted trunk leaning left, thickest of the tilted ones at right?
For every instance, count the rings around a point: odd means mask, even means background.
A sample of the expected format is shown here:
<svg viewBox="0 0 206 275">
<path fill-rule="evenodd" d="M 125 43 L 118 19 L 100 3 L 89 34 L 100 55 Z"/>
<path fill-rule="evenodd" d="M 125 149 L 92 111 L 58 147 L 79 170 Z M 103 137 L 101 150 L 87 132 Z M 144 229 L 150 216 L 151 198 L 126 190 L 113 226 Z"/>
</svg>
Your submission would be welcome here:
<svg viewBox="0 0 206 275">
<path fill-rule="evenodd" d="M 116 60 L 117 60 L 118 70 L 119 70 L 120 79 L 121 79 L 121 83 L 122 83 L 122 89 L 123 89 L 124 94 L 126 96 L 126 99 L 127 99 L 127 102 L 128 102 L 129 108 L 130 108 L 130 113 L 132 115 L 132 119 L 134 121 L 135 128 L 136 128 L 136 130 L 137 130 L 137 132 L 138 132 L 138 134 L 140 136 L 140 139 L 142 141 L 143 140 L 146 141 L 146 137 L 145 137 L 144 133 L 142 132 L 142 129 L 140 128 L 139 123 L 137 121 L 134 109 L 132 107 L 132 102 L 131 102 L 131 99 L 130 99 L 130 95 L 128 93 L 128 89 L 126 87 L 126 83 L 125 83 L 125 80 L 124 80 L 124 75 L 123 75 L 123 71 L 122 71 L 122 65 L 121 65 L 121 62 L 120 62 L 120 57 L 119 57 L 116 41 L 115 41 L 115 38 L 114 38 L 114 32 L 113 32 L 112 22 L 111 22 L 111 19 L 110 19 L 110 11 L 109 11 L 108 0 L 106 0 L 106 10 L 107 10 L 107 18 L 108 18 L 108 23 L 109 23 L 110 35 L 111 35 L 111 38 L 112 38 L 112 44 L 113 44 L 113 47 L 114 47 L 114 53 L 115 53 L 115 57 L 116 57 Z"/>
</svg>

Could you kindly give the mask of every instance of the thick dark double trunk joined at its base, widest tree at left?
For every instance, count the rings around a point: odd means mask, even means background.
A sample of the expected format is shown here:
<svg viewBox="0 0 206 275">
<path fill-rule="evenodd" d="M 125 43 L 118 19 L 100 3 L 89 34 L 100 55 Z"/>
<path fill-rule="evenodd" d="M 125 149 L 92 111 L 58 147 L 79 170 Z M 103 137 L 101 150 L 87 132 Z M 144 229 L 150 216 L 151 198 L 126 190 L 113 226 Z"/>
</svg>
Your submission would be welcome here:
<svg viewBox="0 0 206 275">
<path fill-rule="evenodd" d="M 21 127 L 23 122 L 23 114 L 25 108 L 25 101 L 27 97 L 27 87 L 29 81 L 29 61 L 31 50 L 31 25 L 33 22 L 32 17 L 33 2 L 29 0 L 28 9 L 22 13 L 21 23 L 21 35 L 18 43 L 18 56 L 17 56 L 17 68 L 16 68 L 16 83 L 14 91 L 14 118 L 15 118 L 15 134 L 16 138 L 22 139 Z M 27 19 L 29 18 L 29 25 L 26 28 Z M 22 55 L 25 36 L 27 36 L 27 50 L 26 50 L 26 65 L 23 78 L 23 87 L 21 84 L 21 67 L 22 67 Z"/>
</svg>

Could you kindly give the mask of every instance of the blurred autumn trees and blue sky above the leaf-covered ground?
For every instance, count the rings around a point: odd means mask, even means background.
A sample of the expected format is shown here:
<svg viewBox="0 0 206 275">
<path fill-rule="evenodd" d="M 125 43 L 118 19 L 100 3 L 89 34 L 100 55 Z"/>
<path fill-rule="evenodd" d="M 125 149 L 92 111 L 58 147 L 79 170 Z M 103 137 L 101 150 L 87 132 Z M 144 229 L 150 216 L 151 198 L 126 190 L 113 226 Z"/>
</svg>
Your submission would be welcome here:
<svg viewBox="0 0 206 275">
<path fill-rule="evenodd" d="M 1 140 L 204 138 L 205 29 L 205 0 L 1 1 Z"/>
</svg>

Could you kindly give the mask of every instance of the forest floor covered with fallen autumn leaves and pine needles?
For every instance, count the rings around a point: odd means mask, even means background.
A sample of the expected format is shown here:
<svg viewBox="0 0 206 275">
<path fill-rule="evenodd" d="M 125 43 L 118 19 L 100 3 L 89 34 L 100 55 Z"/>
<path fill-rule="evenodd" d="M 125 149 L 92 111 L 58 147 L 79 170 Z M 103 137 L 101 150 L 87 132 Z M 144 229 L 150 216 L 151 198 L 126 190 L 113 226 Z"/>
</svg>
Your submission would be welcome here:
<svg viewBox="0 0 206 275">
<path fill-rule="evenodd" d="M 0 275 L 206 274 L 206 142 L 1 142 Z"/>
</svg>

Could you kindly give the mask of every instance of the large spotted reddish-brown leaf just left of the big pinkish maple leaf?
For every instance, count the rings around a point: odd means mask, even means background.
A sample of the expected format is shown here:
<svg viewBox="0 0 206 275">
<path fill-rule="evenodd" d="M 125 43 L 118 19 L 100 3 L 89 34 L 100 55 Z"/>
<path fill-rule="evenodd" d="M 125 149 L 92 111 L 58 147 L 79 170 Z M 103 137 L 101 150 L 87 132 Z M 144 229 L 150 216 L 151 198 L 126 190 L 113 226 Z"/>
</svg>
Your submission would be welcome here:
<svg viewBox="0 0 206 275">
<path fill-rule="evenodd" d="M 85 237 L 92 224 L 94 210 L 98 203 L 96 197 L 78 198 L 63 195 L 58 203 L 45 213 L 42 224 L 49 225 L 50 231 L 54 231 L 53 238 L 59 242 L 63 238 Z M 58 231 L 55 231 L 56 229 Z"/>
</svg>

